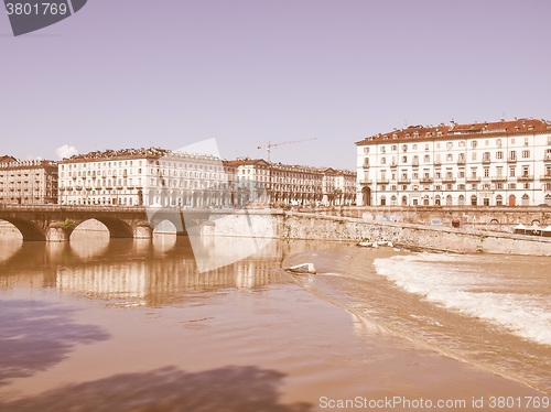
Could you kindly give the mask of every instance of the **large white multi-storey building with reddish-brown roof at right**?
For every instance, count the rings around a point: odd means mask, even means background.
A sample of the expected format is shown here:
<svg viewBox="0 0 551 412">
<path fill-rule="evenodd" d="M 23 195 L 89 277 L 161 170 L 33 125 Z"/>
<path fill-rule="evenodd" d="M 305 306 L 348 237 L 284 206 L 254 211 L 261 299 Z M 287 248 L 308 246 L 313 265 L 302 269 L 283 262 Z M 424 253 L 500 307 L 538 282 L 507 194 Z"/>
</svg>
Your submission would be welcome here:
<svg viewBox="0 0 551 412">
<path fill-rule="evenodd" d="M 551 122 L 410 126 L 357 147 L 357 204 L 551 205 Z"/>
</svg>

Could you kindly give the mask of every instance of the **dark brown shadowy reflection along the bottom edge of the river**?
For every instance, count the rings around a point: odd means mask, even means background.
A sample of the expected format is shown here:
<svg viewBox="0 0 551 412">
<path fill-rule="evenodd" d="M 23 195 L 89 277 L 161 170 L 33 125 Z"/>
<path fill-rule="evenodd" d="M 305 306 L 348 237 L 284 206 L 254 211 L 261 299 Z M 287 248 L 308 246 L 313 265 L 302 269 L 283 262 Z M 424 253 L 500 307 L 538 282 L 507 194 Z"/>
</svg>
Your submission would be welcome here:
<svg viewBox="0 0 551 412">
<path fill-rule="evenodd" d="M 1 402 L 10 412 L 174 411 L 309 412 L 309 403 L 280 403 L 285 376 L 252 366 L 201 372 L 169 367 L 72 384 L 36 397 Z"/>
</svg>

